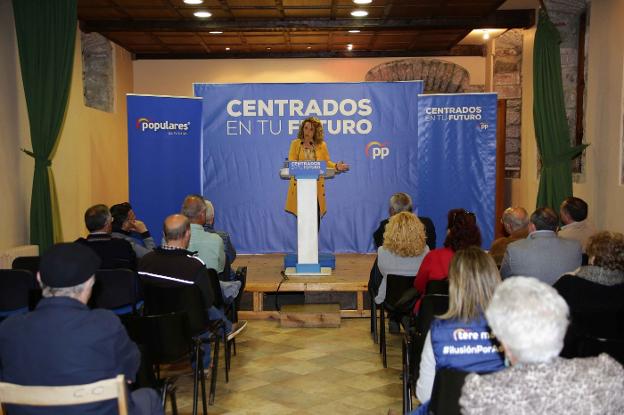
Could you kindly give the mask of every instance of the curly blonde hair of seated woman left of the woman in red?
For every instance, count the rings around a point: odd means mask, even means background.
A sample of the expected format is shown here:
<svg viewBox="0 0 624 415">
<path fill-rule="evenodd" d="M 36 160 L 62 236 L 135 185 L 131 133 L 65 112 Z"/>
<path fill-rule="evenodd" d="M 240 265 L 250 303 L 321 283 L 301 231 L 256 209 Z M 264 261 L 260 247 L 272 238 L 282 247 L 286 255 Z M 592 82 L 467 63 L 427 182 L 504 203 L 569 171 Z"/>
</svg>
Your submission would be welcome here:
<svg viewBox="0 0 624 415">
<path fill-rule="evenodd" d="M 390 217 L 384 232 L 383 247 L 402 257 L 422 254 L 426 245 L 425 226 L 411 212 L 401 212 Z"/>
</svg>

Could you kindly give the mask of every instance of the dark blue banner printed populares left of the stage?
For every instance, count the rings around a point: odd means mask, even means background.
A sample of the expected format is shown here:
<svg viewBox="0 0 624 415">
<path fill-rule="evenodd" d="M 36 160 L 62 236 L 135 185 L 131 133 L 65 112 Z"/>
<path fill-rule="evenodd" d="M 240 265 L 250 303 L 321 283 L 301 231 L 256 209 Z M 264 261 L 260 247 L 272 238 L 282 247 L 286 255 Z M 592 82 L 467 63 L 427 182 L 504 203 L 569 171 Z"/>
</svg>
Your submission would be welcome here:
<svg viewBox="0 0 624 415">
<path fill-rule="evenodd" d="M 163 220 L 202 190 L 202 102 L 128 95 L 127 104 L 130 203 L 159 243 Z"/>
</svg>

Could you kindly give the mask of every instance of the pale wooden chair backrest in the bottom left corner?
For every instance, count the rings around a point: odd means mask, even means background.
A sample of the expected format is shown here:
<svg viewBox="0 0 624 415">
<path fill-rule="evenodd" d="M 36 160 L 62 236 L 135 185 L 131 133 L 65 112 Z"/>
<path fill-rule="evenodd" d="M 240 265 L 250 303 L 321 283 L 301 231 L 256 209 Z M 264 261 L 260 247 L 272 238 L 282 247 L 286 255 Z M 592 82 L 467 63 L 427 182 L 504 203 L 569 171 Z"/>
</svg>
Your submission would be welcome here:
<svg viewBox="0 0 624 415">
<path fill-rule="evenodd" d="M 0 404 L 66 406 L 117 399 L 120 415 L 128 414 L 123 375 L 86 385 L 23 386 L 0 382 Z M 0 405 L 0 415 L 4 414 Z"/>
</svg>

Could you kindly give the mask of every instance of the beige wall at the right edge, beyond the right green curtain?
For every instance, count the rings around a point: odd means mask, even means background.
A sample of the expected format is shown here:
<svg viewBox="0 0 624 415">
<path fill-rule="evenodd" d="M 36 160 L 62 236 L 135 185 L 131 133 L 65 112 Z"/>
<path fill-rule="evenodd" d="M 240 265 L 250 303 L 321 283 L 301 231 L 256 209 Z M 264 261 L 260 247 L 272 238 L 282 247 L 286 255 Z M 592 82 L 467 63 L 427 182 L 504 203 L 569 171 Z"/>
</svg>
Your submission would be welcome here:
<svg viewBox="0 0 624 415">
<path fill-rule="evenodd" d="M 574 193 L 593 201 L 593 219 L 602 229 L 624 232 L 624 187 L 619 184 L 624 76 L 624 1 L 592 1 L 585 136 L 586 181 Z"/>
</svg>

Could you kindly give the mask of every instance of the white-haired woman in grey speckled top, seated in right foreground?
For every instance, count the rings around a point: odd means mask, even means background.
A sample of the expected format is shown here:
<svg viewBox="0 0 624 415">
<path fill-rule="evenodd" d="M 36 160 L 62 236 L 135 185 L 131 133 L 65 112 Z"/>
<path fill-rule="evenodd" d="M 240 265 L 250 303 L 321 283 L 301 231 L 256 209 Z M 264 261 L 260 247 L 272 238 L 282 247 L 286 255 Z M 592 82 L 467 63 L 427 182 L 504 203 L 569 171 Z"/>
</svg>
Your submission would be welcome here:
<svg viewBox="0 0 624 415">
<path fill-rule="evenodd" d="M 499 284 L 485 311 L 511 368 L 468 375 L 462 414 L 622 414 L 624 368 L 606 354 L 562 359 L 568 305 L 532 277 Z"/>
</svg>

